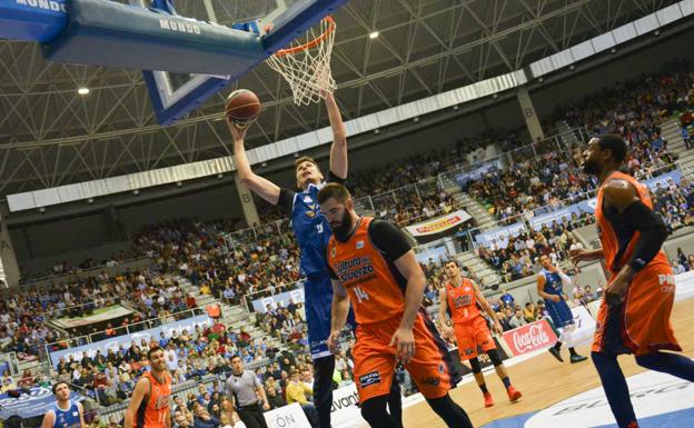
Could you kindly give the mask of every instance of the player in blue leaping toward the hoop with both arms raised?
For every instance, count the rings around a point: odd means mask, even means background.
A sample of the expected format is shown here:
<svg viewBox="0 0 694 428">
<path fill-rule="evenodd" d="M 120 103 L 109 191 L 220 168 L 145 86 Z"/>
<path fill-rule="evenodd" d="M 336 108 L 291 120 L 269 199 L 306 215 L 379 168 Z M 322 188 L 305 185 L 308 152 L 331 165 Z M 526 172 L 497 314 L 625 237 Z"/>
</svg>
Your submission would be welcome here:
<svg viewBox="0 0 694 428">
<path fill-rule="evenodd" d="M 347 130 L 331 93 L 327 94 L 325 102 L 333 129 L 330 169 L 326 180 L 314 159 L 308 157 L 297 159 L 295 161 L 296 180 L 300 191 L 280 188 L 254 173 L 244 147 L 247 128 L 238 127 L 232 120 L 227 119 L 234 138 L 234 152 L 239 178 L 256 195 L 272 205 L 279 206 L 290 215 L 291 228 L 301 249 L 300 268 L 306 276 L 304 283 L 306 322 L 316 374 L 314 397 L 320 428 L 330 427 L 335 356 L 327 345 L 327 339 L 330 336 L 333 283 L 325 260 L 325 249 L 333 232 L 330 225 L 318 207 L 318 190 L 323 188 L 325 182 L 343 183 L 347 178 Z M 394 385 L 388 405 L 390 414 L 400 421 L 401 427 L 400 396 L 397 384 L 394 382 Z"/>
</svg>

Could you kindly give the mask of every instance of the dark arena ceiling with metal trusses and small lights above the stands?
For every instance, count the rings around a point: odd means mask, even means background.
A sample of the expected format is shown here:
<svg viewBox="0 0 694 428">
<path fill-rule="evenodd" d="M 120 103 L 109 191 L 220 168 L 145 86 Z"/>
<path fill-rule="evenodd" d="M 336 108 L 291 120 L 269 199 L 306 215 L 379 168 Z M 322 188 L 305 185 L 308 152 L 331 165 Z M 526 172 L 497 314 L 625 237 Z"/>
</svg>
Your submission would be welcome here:
<svg viewBox="0 0 694 428">
<path fill-rule="evenodd" d="M 262 16 L 268 1 L 211 3 L 218 21 L 230 23 Z M 180 14 L 206 18 L 205 2 L 176 4 Z M 335 14 L 338 103 L 350 119 L 517 70 L 675 2 L 350 0 Z M 220 120 L 228 91 L 160 128 L 139 70 L 50 63 L 38 43 L 0 41 L 0 195 L 230 155 Z M 79 87 L 90 93 L 79 96 Z M 237 87 L 264 101 L 251 146 L 327 125 L 323 106 L 296 107 L 265 64 Z"/>
</svg>

